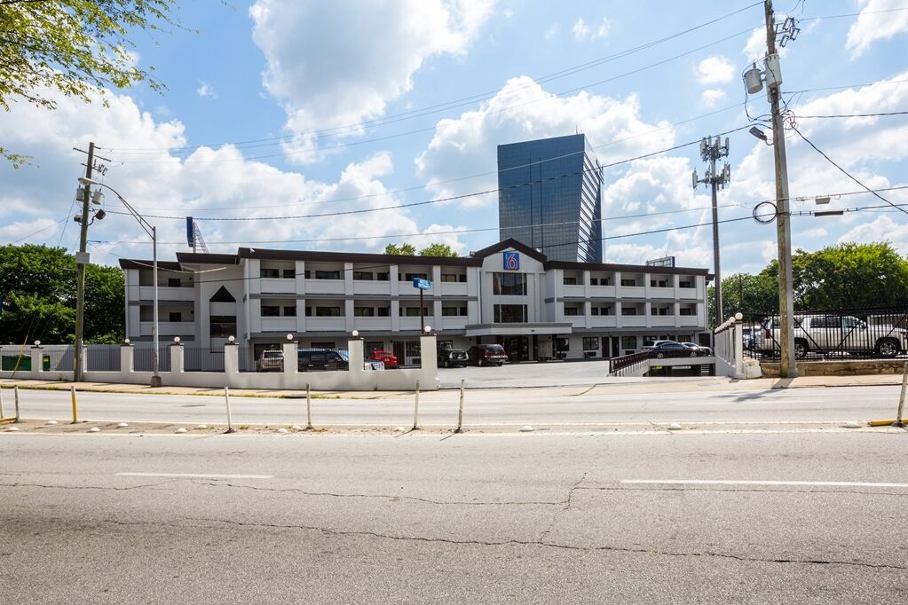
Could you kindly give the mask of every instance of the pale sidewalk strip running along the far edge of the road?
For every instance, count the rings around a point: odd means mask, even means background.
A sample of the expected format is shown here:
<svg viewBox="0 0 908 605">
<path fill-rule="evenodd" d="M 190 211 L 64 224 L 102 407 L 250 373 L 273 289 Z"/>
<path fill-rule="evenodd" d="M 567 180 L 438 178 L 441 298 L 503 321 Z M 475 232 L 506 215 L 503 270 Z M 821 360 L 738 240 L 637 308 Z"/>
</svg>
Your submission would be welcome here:
<svg viewBox="0 0 908 605">
<path fill-rule="evenodd" d="M 753 380 L 735 380 L 733 378 L 716 376 L 691 376 L 677 378 L 606 378 L 598 382 L 550 384 L 550 385 L 467 385 L 470 391 L 510 391 L 524 390 L 527 388 L 545 389 L 569 395 L 616 395 L 616 394 L 664 394 L 664 393 L 691 393 L 696 391 L 762 391 L 775 388 L 810 388 L 810 387 L 842 387 L 842 386 L 883 386 L 901 385 L 902 376 L 899 375 L 870 375 L 870 376 L 804 376 L 800 378 L 755 378 Z M 44 380 L 17 380 L 12 378 L 0 379 L 0 386 L 4 389 L 18 385 L 24 389 L 45 389 L 54 391 L 69 391 L 75 385 L 76 391 L 95 393 L 122 393 L 133 395 L 210 395 L 222 396 L 220 388 L 196 388 L 191 386 L 160 386 L 124 385 L 108 383 L 72 383 Z M 423 395 L 432 397 L 435 394 L 444 394 L 442 391 L 424 391 Z M 230 394 L 238 397 L 270 397 L 270 398 L 300 398 L 305 396 L 305 391 L 297 390 L 258 390 L 258 389 L 231 389 Z M 402 391 L 353 391 L 353 392 L 312 392 L 316 399 L 390 399 L 400 396 L 410 396 L 412 392 Z"/>
</svg>

